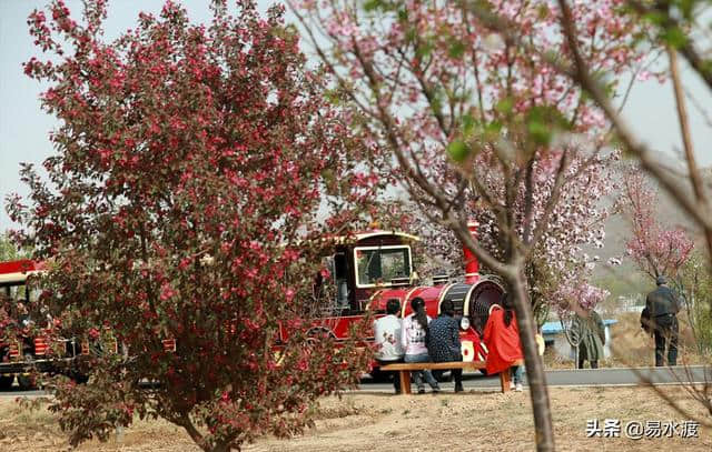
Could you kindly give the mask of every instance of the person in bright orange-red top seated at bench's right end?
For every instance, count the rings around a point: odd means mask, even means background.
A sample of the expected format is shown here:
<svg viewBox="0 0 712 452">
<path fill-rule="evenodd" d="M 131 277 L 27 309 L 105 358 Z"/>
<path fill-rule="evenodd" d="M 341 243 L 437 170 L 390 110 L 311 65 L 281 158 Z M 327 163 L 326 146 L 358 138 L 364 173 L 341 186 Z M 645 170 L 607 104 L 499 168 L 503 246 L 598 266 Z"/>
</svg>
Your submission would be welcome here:
<svg viewBox="0 0 712 452">
<path fill-rule="evenodd" d="M 513 383 L 516 391 L 522 391 L 522 365 L 512 365 L 524 358 L 520 340 L 520 327 L 516 323 L 514 307 L 510 295 L 502 297 L 502 307 L 493 304 L 483 335 L 487 346 L 487 374 L 508 372 L 512 369 Z"/>
</svg>

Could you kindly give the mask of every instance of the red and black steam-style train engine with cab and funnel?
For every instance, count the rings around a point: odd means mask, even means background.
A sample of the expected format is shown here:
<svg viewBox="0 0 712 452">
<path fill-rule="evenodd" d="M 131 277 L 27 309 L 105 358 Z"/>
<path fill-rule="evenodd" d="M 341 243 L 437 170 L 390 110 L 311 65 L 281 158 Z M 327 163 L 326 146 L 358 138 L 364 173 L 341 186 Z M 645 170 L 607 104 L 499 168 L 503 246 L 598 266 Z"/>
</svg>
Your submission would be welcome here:
<svg viewBox="0 0 712 452">
<path fill-rule="evenodd" d="M 474 233 L 476 224 L 471 224 Z M 484 360 L 487 350 L 481 341 L 490 307 L 498 303 L 504 290 L 493 278 L 478 272 L 476 258 L 465 249 L 462 281 L 435 277 L 431 285 L 419 284 L 413 268 L 415 235 L 394 231 L 368 231 L 337 240 L 334 253 L 325 258 L 328 278 L 317 275 L 315 295 L 326 298 L 325 317 L 310 323 L 315 333 L 346 339 L 349 327 L 367 311 L 376 318 L 385 313 L 390 299 L 400 302 L 400 317 L 412 312 L 411 301 L 425 300 L 426 312 L 435 318 L 441 303 L 451 300 L 459 317 L 464 361 Z M 288 332 L 283 329 L 283 339 Z M 368 338 L 373 341 L 373 338 Z"/>
</svg>

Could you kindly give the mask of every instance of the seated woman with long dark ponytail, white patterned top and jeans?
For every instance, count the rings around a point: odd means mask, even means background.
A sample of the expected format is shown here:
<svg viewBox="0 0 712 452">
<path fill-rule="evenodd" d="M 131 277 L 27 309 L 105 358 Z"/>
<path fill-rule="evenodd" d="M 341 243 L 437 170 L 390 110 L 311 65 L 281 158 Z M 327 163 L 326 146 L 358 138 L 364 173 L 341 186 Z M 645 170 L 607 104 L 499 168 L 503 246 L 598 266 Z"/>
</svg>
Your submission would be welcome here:
<svg viewBox="0 0 712 452">
<path fill-rule="evenodd" d="M 403 319 L 403 334 L 402 345 L 405 351 L 405 362 L 429 362 L 431 356 L 427 354 L 427 346 L 425 337 L 428 332 L 428 323 L 431 318 L 425 313 L 425 301 L 416 297 L 411 302 L 413 313 Z M 413 372 L 413 379 L 418 386 L 418 394 L 425 392 L 425 385 L 423 384 L 423 378 L 427 381 L 427 384 L 433 388 L 433 392 L 439 392 L 437 381 L 433 378 L 433 372 L 429 370 Z"/>
</svg>

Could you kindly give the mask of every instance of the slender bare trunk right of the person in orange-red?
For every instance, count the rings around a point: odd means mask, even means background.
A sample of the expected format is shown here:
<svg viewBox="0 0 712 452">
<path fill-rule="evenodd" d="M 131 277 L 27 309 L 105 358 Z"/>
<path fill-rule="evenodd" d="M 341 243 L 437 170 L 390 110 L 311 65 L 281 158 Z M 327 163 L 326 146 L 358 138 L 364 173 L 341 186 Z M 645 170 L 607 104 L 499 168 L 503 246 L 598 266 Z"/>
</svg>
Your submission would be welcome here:
<svg viewBox="0 0 712 452">
<path fill-rule="evenodd" d="M 521 265 L 517 265 L 521 269 Z M 520 270 L 517 274 L 508 274 L 507 283 L 513 291 L 520 338 L 524 349 L 526 379 L 530 384 L 532 411 L 534 413 L 534 431 L 536 433 L 536 450 L 554 451 L 554 426 L 548 404 L 548 389 L 544 363 L 538 355 L 538 348 L 534 338 L 534 315 L 530 297 L 525 287 L 525 279 Z"/>
</svg>

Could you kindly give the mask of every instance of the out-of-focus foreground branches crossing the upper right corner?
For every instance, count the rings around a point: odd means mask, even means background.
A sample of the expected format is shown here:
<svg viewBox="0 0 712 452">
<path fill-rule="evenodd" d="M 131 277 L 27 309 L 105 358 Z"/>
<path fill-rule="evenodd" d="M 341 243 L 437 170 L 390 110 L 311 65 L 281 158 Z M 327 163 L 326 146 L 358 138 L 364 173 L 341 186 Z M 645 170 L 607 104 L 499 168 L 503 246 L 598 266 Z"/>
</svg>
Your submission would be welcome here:
<svg viewBox="0 0 712 452">
<path fill-rule="evenodd" d="M 558 0 L 562 10 L 560 17 L 561 29 L 565 36 L 566 43 L 571 49 L 572 58 L 568 61 L 554 62 L 556 72 L 568 77 L 581 87 L 605 113 L 611 121 L 624 149 L 634 157 L 640 167 L 651 174 L 660 185 L 675 200 L 696 225 L 700 227 L 705 238 L 706 260 L 712 262 L 712 204 L 710 203 L 709 191 L 702 182 L 701 172 L 696 164 L 696 158 L 692 145 L 692 134 L 688 122 L 686 102 L 683 96 L 683 86 L 680 78 L 678 57 L 686 60 L 690 68 L 705 83 L 708 89 L 712 89 L 712 59 L 710 58 L 710 41 L 706 31 L 710 27 L 709 17 L 705 13 L 709 2 L 705 1 L 655 1 L 642 2 L 637 0 L 625 1 L 626 13 L 633 20 L 649 26 L 650 33 L 642 37 L 642 42 L 651 48 L 663 47 L 668 54 L 669 73 L 672 80 L 672 88 L 675 96 L 676 115 L 680 123 L 680 138 L 684 149 L 684 162 L 689 173 L 686 178 L 679 178 L 671 174 L 657 159 L 655 150 L 644 144 L 641 137 L 644 132 L 635 131 L 621 117 L 611 101 L 610 93 L 602 86 L 601 79 L 596 77 L 595 63 L 589 61 L 581 43 L 577 40 L 577 29 L 573 8 L 570 1 Z M 491 20 L 494 29 L 504 30 L 505 22 L 502 20 Z M 524 44 L 526 46 L 526 44 Z M 553 61 L 553 59 L 550 59 Z M 704 112 L 703 112 L 704 114 Z M 691 197 L 688 189 L 692 188 Z M 679 240 L 679 238 L 669 239 Z M 706 267 L 708 277 L 710 267 Z M 706 301 L 706 311 L 711 312 L 712 300 Z M 650 383 L 647 378 L 639 374 L 642 381 Z M 698 401 L 710 414 L 712 414 L 712 398 L 710 396 L 710 384 L 702 388 L 695 384 L 688 384 L 689 394 Z M 694 418 L 679 401 L 671 399 L 662 391 L 657 394 L 665 400 L 673 409 L 690 419 Z M 699 419 L 699 418 L 698 418 Z M 708 423 L 709 424 L 709 423 Z"/>
</svg>

